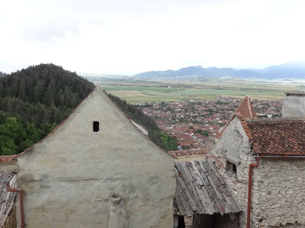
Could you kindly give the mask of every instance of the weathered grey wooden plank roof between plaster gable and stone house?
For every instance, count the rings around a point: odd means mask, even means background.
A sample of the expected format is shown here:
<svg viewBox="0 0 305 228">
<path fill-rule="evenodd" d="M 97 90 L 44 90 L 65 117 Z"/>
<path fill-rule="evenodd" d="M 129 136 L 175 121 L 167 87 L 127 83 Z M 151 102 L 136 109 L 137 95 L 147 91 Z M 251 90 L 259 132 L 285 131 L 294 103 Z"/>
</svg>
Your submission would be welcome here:
<svg viewBox="0 0 305 228">
<path fill-rule="evenodd" d="M 214 164 L 208 159 L 175 162 L 176 194 L 173 210 L 176 215 L 221 215 L 241 211 Z"/>
</svg>

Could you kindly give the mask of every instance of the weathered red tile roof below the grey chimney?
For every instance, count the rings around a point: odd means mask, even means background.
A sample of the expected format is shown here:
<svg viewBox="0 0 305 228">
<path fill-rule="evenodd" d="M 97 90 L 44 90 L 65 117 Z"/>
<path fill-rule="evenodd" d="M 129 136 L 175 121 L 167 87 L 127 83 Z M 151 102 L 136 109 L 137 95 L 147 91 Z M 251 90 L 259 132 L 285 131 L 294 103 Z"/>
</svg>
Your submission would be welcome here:
<svg viewBox="0 0 305 228">
<path fill-rule="evenodd" d="M 257 154 L 305 155 L 305 118 L 246 120 Z"/>
</svg>

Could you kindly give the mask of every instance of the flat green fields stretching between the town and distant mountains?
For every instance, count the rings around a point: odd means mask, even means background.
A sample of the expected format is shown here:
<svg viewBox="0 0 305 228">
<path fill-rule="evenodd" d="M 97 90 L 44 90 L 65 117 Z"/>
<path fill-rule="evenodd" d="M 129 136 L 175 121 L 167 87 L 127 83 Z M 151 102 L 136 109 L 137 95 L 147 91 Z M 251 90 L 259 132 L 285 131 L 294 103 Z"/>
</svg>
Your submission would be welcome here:
<svg viewBox="0 0 305 228">
<path fill-rule="evenodd" d="M 215 96 L 243 98 L 247 94 L 252 99 L 280 100 L 284 92 L 303 92 L 304 87 L 299 84 L 284 83 L 184 83 L 169 82 L 154 83 L 118 83 L 95 82 L 107 93 L 111 93 L 128 102 L 144 103 L 154 101 L 186 101 L 186 100 L 213 100 Z M 145 86 L 144 86 L 145 85 Z M 155 87 L 165 86 L 166 87 Z M 179 88 L 178 86 L 191 86 L 192 88 Z M 168 88 L 170 86 L 170 88 Z"/>
</svg>

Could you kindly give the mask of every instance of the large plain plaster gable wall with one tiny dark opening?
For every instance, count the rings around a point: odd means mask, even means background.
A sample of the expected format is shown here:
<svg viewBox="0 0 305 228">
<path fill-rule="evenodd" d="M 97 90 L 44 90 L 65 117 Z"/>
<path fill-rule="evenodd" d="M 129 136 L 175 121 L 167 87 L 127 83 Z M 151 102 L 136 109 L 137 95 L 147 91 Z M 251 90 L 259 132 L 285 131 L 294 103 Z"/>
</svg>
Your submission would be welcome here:
<svg viewBox="0 0 305 228">
<path fill-rule="evenodd" d="M 26 227 L 173 227 L 173 157 L 100 88 L 17 165 Z"/>
</svg>

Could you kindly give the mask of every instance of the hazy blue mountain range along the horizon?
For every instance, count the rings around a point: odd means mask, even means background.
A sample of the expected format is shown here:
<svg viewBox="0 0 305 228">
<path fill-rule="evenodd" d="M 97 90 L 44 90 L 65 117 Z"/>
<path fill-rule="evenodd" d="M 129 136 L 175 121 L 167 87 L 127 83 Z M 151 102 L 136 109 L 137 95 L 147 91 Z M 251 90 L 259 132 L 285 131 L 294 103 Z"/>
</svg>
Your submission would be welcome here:
<svg viewBox="0 0 305 228">
<path fill-rule="evenodd" d="M 265 69 L 218 68 L 190 66 L 178 70 L 147 71 L 133 75 L 136 78 L 174 78 L 178 76 L 196 75 L 199 78 L 234 77 L 241 79 L 305 79 L 305 61 L 293 61 L 281 65 L 269 66 Z"/>
</svg>

